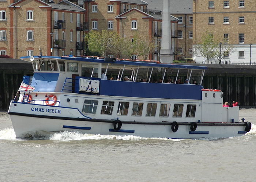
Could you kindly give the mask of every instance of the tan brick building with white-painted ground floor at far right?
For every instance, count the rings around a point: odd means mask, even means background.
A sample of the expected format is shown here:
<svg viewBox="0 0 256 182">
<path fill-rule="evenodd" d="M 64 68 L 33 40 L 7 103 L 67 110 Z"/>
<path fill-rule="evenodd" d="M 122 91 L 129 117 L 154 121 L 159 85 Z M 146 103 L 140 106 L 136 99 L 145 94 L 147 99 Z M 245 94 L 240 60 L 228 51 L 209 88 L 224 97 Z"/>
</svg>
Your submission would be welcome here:
<svg viewBox="0 0 256 182">
<path fill-rule="evenodd" d="M 203 32 L 210 30 L 227 44 L 233 44 L 236 51 L 227 52 L 223 58 L 226 63 L 256 62 L 255 19 L 255 0 L 193 0 L 193 36 L 200 39 Z M 203 62 L 203 57 L 196 60 Z"/>
</svg>

